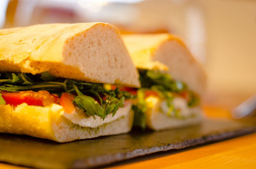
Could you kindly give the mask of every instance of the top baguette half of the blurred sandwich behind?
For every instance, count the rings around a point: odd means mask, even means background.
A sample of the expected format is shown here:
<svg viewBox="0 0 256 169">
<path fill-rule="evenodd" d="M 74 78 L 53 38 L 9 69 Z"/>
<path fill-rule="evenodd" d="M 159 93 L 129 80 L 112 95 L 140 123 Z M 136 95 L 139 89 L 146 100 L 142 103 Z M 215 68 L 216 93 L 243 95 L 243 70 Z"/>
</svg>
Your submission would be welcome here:
<svg viewBox="0 0 256 169">
<path fill-rule="evenodd" d="M 170 34 L 127 34 L 123 38 L 137 68 L 164 70 L 166 66 L 173 79 L 203 94 L 204 70 L 179 38 Z"/>
</svg>

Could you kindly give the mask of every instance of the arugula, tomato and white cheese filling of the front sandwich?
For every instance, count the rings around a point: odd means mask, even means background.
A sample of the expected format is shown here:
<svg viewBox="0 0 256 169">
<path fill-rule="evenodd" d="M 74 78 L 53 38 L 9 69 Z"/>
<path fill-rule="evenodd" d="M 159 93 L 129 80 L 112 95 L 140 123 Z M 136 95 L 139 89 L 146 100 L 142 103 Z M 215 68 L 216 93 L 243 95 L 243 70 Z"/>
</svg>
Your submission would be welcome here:
<svg viewBox="0 0 256 169">
<path fill-rule="evenodd" d="M 48 72 L 36 75 L 1 73 L 0 105 L 60 105 L 70 121 L 76 124 L 88 121 L 86 126 L 96 127 L 129 113 L 131 107 L 129 99 L 133 98 L 132 94 L 120 91 L 118 87 L 108 89 L 106 86 L 58 78 Z"/>
</svg>

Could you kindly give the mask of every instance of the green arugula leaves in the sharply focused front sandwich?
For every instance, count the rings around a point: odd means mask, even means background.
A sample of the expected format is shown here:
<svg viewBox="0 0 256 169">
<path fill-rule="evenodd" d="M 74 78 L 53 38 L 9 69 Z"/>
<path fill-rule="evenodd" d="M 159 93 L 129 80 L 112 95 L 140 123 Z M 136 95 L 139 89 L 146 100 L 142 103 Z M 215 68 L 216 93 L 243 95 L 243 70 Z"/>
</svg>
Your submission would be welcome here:
<svg viewBox="0 0 256 169">
<path fill-rule="evenodd" d="M 118 108 L 124 107 L 124 99 L 132 98 L 129 92 L 120 91 L 118 88 L 107 90 L 103 84 L 56 78 L 49 72 L 39 75 L 1 73 L 0 90 L 8 92 L 46 90 L 58 96 L 61 96 L 63 92 L 77 94 L 74 103 L 87 115 L 98 115 L 102 119 L 111 113 L 115 115 Z M 102 99 L 102 96 L 107 97 L 106 101 Z M 98 99 L 100 103 L 95 99 Z"/>
</svg>

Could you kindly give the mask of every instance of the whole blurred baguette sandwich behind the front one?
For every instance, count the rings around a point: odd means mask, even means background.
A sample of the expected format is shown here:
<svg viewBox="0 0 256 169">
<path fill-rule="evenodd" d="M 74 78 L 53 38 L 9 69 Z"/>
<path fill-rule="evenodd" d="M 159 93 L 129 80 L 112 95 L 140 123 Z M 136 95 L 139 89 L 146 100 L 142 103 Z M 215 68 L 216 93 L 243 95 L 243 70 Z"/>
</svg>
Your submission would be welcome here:
<svg viewBox="0 0 256 169">
<path fill-rule="evenodd" d="M 140 73 L 132 105 L 134 126 L 154 130 L 202 121 L 205 73 L 182 41 L 171 34 L 127 34 L 126 47 Z"/>
</svg>

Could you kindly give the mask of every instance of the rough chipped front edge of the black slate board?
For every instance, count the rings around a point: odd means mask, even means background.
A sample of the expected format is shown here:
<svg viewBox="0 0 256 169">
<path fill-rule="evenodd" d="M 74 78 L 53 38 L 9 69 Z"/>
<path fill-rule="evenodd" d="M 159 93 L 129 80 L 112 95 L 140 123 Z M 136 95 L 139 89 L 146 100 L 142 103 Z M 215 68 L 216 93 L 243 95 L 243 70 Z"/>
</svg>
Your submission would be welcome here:
<svg viewBox="0 0 256 169">
<path fill-rule="evenodd" d="M 205 143 L 214 143 L 220 142 L 223 140 L 228 140 L 230 138 L 237 138 L 239 136 L 248 135 L 256 132 L 255 127 L 248 127 L 243 129 L 238 129 L 236 131 L 227 131 L 225 133 L 220 133 L 216 135 L 203 136 L 201 138 L 195 138 L 191 140 L 186 140 L 185 142 L 180 142 L 182 146 L 175 146 L 175 144 L 163 145 L 161 147 L 152 147 L 150 149 L 137 149 L 136 151 L 127 152 L 127 153 L 118 153 L 111 154 L 106 156 L 98 156 L 97 158 L 90 158 L 90 161 L 87 159 L 78 159 L 74 161 L 72 168 L 99 168 L 102 166 L 113 165 L 114 163 L 118 163 L 120 161 L 129 161 L 129 159 L 138 158 L 141 156 L 145 156 L 148 154 L 154 154 L 156 152 L 164 152 L 164 151 L 175 151 L 179 149 L 185 149 L 188 147 L 193 147 L 195 145 L 202 145 Z M 97 164 L 97 165 L 95 165 Z"/>
</svg>

